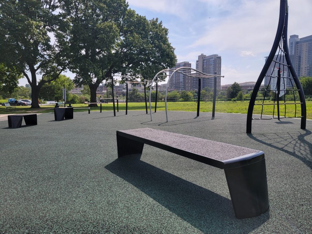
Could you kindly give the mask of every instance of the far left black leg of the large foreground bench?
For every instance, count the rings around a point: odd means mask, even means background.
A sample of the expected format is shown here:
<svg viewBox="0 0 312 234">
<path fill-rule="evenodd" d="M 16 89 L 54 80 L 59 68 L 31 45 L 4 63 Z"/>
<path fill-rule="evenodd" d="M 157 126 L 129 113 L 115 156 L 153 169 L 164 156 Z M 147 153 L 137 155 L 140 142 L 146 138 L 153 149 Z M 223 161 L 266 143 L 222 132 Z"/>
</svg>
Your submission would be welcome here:
<svg viewBox="0 0 312 234">
<path fill-rule="evenodd" d="M 117 133 L 118 158 L 130 154 L 142 154 L 144 143 L 119 136 Z"/>
</svg>

